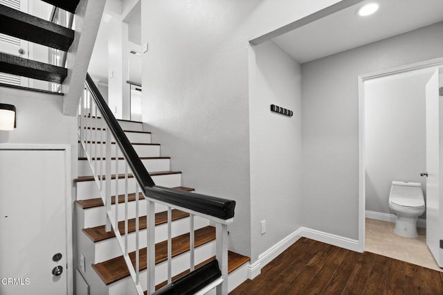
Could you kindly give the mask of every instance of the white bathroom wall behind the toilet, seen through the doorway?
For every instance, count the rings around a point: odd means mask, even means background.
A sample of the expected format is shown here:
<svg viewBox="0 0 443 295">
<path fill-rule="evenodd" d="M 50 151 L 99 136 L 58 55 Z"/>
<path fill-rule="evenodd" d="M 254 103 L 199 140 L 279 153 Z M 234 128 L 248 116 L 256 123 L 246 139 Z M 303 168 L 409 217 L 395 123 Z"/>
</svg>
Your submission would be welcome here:
<svg viewBox="0 0 443 295">
<path fill-rule="evenodd" d="M 420 182 L 426 195 L 425 86 L 432 72 L 365 82 L 366 210 L 391 213 L 392 180 Z M 421 218 L 423 218 L 422 216 Z"/>
</svg>

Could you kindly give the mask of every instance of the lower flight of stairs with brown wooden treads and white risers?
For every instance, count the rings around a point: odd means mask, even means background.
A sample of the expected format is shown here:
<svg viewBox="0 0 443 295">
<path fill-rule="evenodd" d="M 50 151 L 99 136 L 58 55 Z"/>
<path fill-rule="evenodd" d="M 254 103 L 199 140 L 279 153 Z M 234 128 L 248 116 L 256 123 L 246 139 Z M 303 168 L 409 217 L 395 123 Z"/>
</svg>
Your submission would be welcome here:
<svg viewBox="0 0 443 295">
<path fill-rule="evenodd" d="M 97 125 L 93 122 L 95 118 L 89 118 L 89 124 Z M 194 188 L 186 188 L 181 186 L 181 172 L 170 170 L 170 157 L 161 157 L 160 145 L 151 142 L 151 133 L 143 131 L 143 123 L 119 120 L 120 126 L 124 129 L 125 134 L 131 141 L 134 149 L 143 162 L 143 165 L 150 171 L 150 175 L 155 183 L 159 186 L 173 188 L 174 190 L 181 190 L 186 192 L 193 192 Z M 101 127 L 86 127 L 91 132 L 88 137 L 91 140 L 87 141 L 87 149 L 91 150 L 93 160 L 103 161 L 105 166 L 106 159 L 102 159 L 98 147 L 95 150 L 93 143 L 101 144 L 101 138 L 104 138 L 105 132 Z M 115 145 L 115 143 L 111 143 Z M 113 149 L 114 150 L 114 149 Z M 112 154 L 113 166 L 111 166 L 111 177 L 113 182 L 111 187 L 115 186 L 116 169 L 123 171 L 123 157 L 116 159 L 116 154 Z M 123 175 L 118 177 L 120 186 L 123 186 Z M 129 181 L 134 179 L 131 175 Z M 106 231 L 105 222 L 106 214 L 102 199 L 99 197 L 100 193 L 96 188 L 96 183 L 87 162 L 86 157 L 78 158 L 78 178 L 74 180 L 77 187 L 77 201 L 76 216 L 78 226 L 78 253 L 84 257 L 84 262 L 79 266 L 82 276 L 84 276 L 90 287 L 90 294 L 132 294 L 134 288 L 132 280 L 130 279 L 129 270 L 125 265 L 125 260 L 121 255 L 118 247 L 115 234 L 112 231 Z M 139 206 L 146 207 L 146 200 L 140 193 L 138 195 Z M 116 205 L 116 194 L 111 197 L 111 204 L 119 206 L 118 212 L 125 212 L 124 202 L 125 195 L 118 195 L 118 205 Z M 136 213 L 135 202 L 136 194 L 131 192 L 128 195 L 129 201 L 129 217 L 128 220 L 128 244 L 133 245 L 130 249 L 129 256 L 132 262 L 135 261 L 135 234 L 136 231 Z M 114 210 L 114 209 L 113 209 Z M 156 206 L 155 213 L 155 265 L 156 265 L 156 290 L 168 285 L 168 274 L 166 270 L 166 260 L 168 257 L 168 211 L 164 206 Z M 122 219 L 124 217 L 122 216 Z M 139 230 L 141 237 L 146 237 L 147 231 L 147 216 L 141 215 L 139 218 Z M 190 260 L 190 214 L 172 209 L 172 265 L 174 272 L 172 274 L 172 281 L 175 281 L 189 273 Z M 125 234 L 125 222 L 118 222 L 118 229 L 120 234 Z M 201 217 L 195 217 L 194 220 L 194 236 L 195 236 L 195 261 L 196 268 L 208 264 L 208 262 L 215 260 L 215 228 L 210 226 L 209 220 Z M 145 269 L 147 266 L 146 260 L 146 239 L 141 241 L 141 260 L 140 269 L 141 277 L 145 276 Z M 232 290 L 237 285 L 242 283 L 247 278 L 246 262 L 249 258 L 241 256 L 231 251 L 228 252 L 228 290 Z M 135 264 L 135 263 L 134 263 Z M 82 267 L 84 267 L 82 269 Z M 145 282 L 142 282 L 145 286 Z"/>
</svg>

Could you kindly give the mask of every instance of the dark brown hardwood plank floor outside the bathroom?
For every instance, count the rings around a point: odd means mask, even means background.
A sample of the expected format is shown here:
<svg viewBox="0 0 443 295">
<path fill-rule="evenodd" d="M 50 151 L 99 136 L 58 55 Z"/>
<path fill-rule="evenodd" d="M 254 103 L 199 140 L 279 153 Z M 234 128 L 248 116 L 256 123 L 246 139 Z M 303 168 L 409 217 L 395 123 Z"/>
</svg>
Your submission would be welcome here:
<svg viewBox="0 0 443 295">
<path fill-rule="evenodd" d="M 301 238 L 235 294 L 443 294 L 443 276 L 374 253 Z"/>
</svg>

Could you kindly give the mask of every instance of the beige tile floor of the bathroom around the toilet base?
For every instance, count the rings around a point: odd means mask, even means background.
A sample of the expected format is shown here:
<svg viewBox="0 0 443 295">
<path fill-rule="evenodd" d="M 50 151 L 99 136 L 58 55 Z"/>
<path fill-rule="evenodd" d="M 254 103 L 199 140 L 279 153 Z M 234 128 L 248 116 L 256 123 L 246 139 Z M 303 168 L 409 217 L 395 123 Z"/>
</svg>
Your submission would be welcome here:
<svg viewBox="0 0 443 295">
<path fill-rule="evenodd" d="M 426 246 L 426 229 L 417 228 L 417 238 L 394 233 L 395 223 L 366 218 L 365 251 L 443 271 Z"/>
</svg>

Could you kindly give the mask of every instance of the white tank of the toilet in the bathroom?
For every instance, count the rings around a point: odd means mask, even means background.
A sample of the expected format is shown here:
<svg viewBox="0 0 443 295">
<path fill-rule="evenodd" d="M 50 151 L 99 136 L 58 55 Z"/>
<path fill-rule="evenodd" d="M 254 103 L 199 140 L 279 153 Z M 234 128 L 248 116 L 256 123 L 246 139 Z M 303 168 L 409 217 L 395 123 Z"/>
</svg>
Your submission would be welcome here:
<svg viewBox="0 0 443 295">
<path fill-rule="evenodd" d="M 401 206 L 422 207 L 424 197 L 419 182 L 392 181 L 389 193 L 390 202 Z"/>
</svg>

